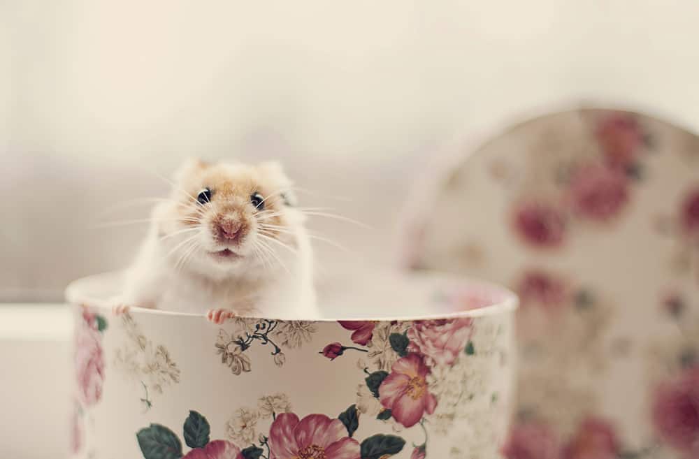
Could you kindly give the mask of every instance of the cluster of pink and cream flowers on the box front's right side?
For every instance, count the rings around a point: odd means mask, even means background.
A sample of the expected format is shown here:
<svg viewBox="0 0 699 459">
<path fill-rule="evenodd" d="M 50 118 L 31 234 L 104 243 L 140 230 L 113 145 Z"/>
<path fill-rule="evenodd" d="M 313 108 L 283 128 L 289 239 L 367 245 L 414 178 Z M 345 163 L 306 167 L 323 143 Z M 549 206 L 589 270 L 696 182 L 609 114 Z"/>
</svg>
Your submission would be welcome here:
<svg viewBox="0 0 699 459">
<path fill-rule="evenodd" d="M 454 297 L 447 298 L 453 300 Z M 488 421 L 498 393 L 491 393 L 491 405 L 486 413 L 470 406 L 470 402 L 476 394 L 487 391 L 480 377 L 487 372 L 480 366 L 481 359 L 491 359 L 495 354 L 493 341 L 497 341 L 502 328 L 493 330 L 483 326 L 482 330 L 486 332 L 483 335 L 487 339 L 482 340 L 475 333 L 473 319 L 468 318 L 407 323 L 353 322 L 351 327 L 346 323 L 340 323 L 340 326 L 347 330 L 367 330 L 370 327 L 372 336 L 366 341 L 367 348 L 333 342 L 321 353 L 330 360 L 345 355 L 348 350 L 367 353 L 371 364 L 368 365 L 363 358 L 359 360 L 358 366 L 365 378 L 364 384 L 358 386 L 354 406 L 359 414 L 394 423 L 397 430 L 419 425 L 424 430 L 424 442 L 417 443 L 413 457 L 424 458 L 428 451 L 428 425 L 442 435 L 449 432 L 454 423 L 466 419 L 475 423 L 478 418 L 478 422 L 493 428 Z M 356 342 L 355 338 L 354 334 L 350 337 Z M 506 355 L 504 349 L 497 351 L 500 356 Z M 480 437 L 481 441 L 487 441 L 487 435 Z M 477 442 L 474 441 L 473 445 Z"/>
</svg>

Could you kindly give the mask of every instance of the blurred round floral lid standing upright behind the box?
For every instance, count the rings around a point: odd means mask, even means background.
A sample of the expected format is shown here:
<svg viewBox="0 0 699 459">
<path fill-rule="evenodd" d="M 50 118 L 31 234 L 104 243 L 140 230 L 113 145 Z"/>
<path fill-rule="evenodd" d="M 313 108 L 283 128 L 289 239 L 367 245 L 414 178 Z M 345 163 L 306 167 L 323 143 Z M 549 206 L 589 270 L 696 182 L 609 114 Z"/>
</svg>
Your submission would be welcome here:
<svg viewBox="0 0 699 459">
<path fill-rule="evenodd" d="M 628 111 L 509 126 L 417 191 L 410 268 L 521 297 L 521 458 L 699 458 L 699 138 Z"/>
</svg>

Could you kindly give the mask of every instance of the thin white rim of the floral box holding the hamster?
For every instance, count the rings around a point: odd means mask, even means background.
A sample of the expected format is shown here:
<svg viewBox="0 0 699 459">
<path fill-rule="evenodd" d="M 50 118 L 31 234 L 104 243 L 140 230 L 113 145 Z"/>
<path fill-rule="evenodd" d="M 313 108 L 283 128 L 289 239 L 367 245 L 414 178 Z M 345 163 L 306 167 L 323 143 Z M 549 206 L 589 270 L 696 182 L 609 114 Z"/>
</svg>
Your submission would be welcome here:
<svg viewBox="0 0 699 459">
<path fill-rule="evenodd" d="M 405 279 L 410 278 L 422 278 L 422 279 L 443 279 L 454 286 L 461 288 L 481 288 L 493 291 L 496 295 L 500 296 L 500 300 L 493 301 L 490 305 L 475 307 L 473 309 L 462 309 L 455 312 L 447 313 L 435 313 L 435 314 L 385 314 L 384 316 L 371 316 L 371 317 L 328 317 L 328 316 L 317 316 L 312 318 L 299 318 L 294 317 L 291 319 L 285 319 L 280 317 L 268 317 L 261 316 L 259 314 L 250 314 L 239 316 L 240 319 L 251 319 L 251 320 L 280 320 L 287 322 L 294 321 L 313 321 L 313 322 L 337 322 L 337 321 L 372 321 L 372 322 L 386 322 L 386 321 L 423 321 L 423 320 L 437 320 L 437 319 L 460 319 L 460 318 L 476 318 L 484 316 L 492 316 L 496 314 L 508 314 L 514 312 L 519 307 L 519 298 L 510 289 L 504 286 L 495 284 L 493 282 L 484 281 L 482 279 L 474 279 L 471 277 L 463 277 L 459 275 L 452 275 L 445 272 L 434 272 L 434 271 L 422 271 L 422 272 L 405 272 L 405 271 L 385 271 L 391 275 L 399 275 Z M 89 275 L 86 277 L 80 277 L 71 282 L 65 289 L 66 301 L 71 305 L 94 307 L 97 309 L 108 310 L 111 312 L 111 306 L 106 298 L 97 298 L 96 296 L 91 296 L 89 293 L 85 293 L 87 287 L 96 282 L 116 282 L 117 276 L 123 275 L 123 271 L 109 271 L 101 272 L 95 275 Z M 129 308 L 131 313 L 136 312 L 138 314 L 155 314 L 164 316 L 180 316 L 180 317 L 201 317 L 205 318 L 205 313 L 196 312 L 177 312 L 168 311 L 166 309 L 149 309 L 145 307 L 131 307 Z"/>
</svg>

